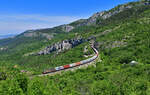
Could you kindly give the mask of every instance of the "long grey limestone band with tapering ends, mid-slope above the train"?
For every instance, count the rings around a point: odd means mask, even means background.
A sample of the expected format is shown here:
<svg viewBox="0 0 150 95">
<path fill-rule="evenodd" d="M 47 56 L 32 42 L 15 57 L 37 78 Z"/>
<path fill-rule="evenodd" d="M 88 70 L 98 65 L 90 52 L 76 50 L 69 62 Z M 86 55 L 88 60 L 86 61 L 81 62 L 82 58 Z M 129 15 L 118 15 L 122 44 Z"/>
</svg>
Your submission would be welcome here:
<svg viewBox="0 0 150 95">
<path fill-rule="evenodd" d="M 82 37 L 67 39 L 67 40 L 63 40 L 61 42 L 57 42 L 52 45 L 46 46 L 44 49 L 40 50 L 39 52 L 28 53 L 28 54 L 25 54 L 24 56 L 47 55 L 47 54 L 51 54 L 52 52 L 60 53 L 60 52 L 69 50 L 69 49 L 74 48 L 84 42 L 91 41 L 91 40 L 95 40 L 95 37 L 91 36 L 87 39 L 84 39 Z"/>
</svg>

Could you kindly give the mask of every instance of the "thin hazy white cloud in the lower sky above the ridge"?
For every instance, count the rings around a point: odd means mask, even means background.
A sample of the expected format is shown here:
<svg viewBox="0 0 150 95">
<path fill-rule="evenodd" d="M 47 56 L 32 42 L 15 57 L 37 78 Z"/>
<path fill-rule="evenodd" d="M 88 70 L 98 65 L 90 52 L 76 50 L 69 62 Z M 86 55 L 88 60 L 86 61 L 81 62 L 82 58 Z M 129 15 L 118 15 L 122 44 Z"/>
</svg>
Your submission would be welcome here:
<svg viewBox="0 0 150 95">
<path fill-rule="evenodd" d="M 80 18 L 45 15 L 0 15 L 0 35 L 18 34 L 28 29 L 50 28 L 67 24 Z"/>
</svg>

